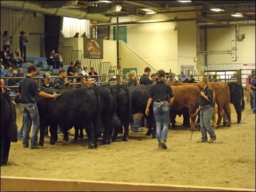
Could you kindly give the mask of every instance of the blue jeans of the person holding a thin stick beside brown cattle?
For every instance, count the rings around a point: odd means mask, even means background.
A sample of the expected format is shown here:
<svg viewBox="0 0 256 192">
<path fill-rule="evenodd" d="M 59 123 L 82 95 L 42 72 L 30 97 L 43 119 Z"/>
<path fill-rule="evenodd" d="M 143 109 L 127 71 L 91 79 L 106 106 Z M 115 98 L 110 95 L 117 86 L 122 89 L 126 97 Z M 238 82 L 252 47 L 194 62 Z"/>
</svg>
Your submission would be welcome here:
<svg viewBox="0 0 256 192">
<path fill-rule="evenodd" d="M 214 132 L 214 129 L 210 125 L 210 119 L 211 119 L 211 111 L 212 107 L 206 107 L 200 110 L 200 127 L 201 127 L 201 133 L 202 133 L 202 140 L 206 141 L 207 138 L 207 132 L 210 135 L 210 138 L 216 139 L 216 134 Z"/>
</svg>

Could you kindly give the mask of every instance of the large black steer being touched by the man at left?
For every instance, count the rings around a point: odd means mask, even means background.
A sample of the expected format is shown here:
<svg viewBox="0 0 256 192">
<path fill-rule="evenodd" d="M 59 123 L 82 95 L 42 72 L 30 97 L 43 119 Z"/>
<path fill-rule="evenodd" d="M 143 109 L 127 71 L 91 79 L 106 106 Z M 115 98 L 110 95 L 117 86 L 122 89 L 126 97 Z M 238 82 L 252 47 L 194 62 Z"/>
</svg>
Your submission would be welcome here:
<svg viewBox="0 0 256 192">
<path fill-rule="evenodd" d="M 68 140 L 70 127 L 86 128 L 89 149 L 98 147 L 101 103 L 100 95 L 95 87 L 67 90 L 56 99 L 37 99 L 40 120 L 48 125 L 61 127 L 63 140 Z"/>
</svg>

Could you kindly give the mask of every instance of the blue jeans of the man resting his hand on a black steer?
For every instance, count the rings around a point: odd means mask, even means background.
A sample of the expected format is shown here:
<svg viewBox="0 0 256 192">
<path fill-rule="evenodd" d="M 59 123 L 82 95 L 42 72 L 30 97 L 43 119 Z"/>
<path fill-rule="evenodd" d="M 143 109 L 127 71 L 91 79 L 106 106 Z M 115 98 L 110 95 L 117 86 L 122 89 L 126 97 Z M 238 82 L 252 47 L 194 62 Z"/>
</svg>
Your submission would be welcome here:
<svg viewBox="0 0 256 192">
<path fill-rule="evenodd" d="M 29 145 L 29 127 L 30 121 L 33 122 L 33 131 L 31 136 L 31 146 L 37 146 L 37 135 L 39 132 L 39 113 L 36 103 L 23 103 L 23 146 Z"/>
</svg>

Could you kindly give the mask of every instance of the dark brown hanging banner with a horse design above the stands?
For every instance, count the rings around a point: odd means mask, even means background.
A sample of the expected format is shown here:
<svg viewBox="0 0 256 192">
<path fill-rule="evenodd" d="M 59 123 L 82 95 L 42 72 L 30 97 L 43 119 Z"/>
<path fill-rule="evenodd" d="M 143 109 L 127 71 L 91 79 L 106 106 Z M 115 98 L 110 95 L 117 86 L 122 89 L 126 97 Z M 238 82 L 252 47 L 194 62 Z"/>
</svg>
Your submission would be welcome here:
<svg viewBox="0 0 256 192">
<path fill-rule="evenodd" d="M 103 39 L 83 39 L 84 58 L 103 59 Z"/>
</svg>

